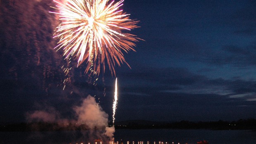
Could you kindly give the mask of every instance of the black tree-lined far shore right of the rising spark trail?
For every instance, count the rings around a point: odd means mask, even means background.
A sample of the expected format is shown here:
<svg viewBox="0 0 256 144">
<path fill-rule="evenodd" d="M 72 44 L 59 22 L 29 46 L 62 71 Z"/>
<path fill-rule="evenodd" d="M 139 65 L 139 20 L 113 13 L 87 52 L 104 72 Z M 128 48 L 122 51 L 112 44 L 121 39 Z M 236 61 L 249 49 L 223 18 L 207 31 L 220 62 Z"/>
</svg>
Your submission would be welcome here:
<svg viewBox="0 0 256 144">
<path fill-rule="evenodd" d="M 160 121 L 145 121 L 145 120 L 131 120 L 119 121 L 115 123 L 116 129 L 130 128 L 130 129 L 155 129 L 155 128 L 169 128 L 169 129 L 211 129 L 211 130 L 256 130 L 256 119 L 249 118 L 246 120 L 240 119 L 238 121 L 174 121 L 174 122 L 160 122 Z"/>
</svg>

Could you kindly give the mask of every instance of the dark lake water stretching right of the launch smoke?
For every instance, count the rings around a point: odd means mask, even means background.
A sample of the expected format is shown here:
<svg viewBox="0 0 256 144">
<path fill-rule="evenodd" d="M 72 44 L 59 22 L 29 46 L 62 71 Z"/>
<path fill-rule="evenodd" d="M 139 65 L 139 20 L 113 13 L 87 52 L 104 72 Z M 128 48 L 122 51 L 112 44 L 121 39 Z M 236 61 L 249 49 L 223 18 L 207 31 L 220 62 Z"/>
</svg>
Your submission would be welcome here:
<svg viewBox="0 0 256 144">
<path fill-rule="evenodd" d="M 115 139 L 144 142 L 174 142 L 196 144 L 208 140 L 210 144 L 256 144 L 256 132 L 251 130 L 116 130 Z"/>
</svg>

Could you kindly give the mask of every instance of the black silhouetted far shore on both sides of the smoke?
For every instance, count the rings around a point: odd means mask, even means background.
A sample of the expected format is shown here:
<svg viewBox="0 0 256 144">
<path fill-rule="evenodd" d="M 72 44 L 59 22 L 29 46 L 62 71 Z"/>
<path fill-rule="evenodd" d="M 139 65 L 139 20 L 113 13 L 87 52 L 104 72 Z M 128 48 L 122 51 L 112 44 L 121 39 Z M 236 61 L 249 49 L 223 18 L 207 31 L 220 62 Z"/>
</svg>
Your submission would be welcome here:
<svg viewBox="0 0 256 144">
<path fill-rule="evenodd" d="M 109 125 L 111 126 L 111 125 Z M 256 119 L 240 119 L 238 121 L 121 121 L 115 123 L 116 129 L 209 129 L 209 130 L 256 130 Z M 0 131 L 62 131 L 62 130 L 88 130 L 88 125 L 79 123 L 5 123 L 0 124 Z M 95 127 L 95 129 L 97 129 Z"/>
</svg>

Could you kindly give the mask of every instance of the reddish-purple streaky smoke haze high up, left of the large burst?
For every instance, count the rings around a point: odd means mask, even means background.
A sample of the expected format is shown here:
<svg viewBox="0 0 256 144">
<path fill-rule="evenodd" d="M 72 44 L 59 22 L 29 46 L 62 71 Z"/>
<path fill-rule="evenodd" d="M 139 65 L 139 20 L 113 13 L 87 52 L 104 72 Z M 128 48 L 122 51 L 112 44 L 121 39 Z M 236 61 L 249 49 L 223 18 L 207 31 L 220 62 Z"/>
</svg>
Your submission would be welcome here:
<svg viewBox="0 0 256 144">
<path fill-rule="evenodd" d="M 1 1 L 0 72 L 17 84 L 23 83 L 21 87 L 30 87 L 24 82 L 26 77 L 33 86 L 48 92 L 65 77 L 60 67 L 67 62 L 61 51 L 53 49 L 58 19 L 49 11 L 55 11 L 51 8 L 54 5 L 52 0 Z"/>
</svg>

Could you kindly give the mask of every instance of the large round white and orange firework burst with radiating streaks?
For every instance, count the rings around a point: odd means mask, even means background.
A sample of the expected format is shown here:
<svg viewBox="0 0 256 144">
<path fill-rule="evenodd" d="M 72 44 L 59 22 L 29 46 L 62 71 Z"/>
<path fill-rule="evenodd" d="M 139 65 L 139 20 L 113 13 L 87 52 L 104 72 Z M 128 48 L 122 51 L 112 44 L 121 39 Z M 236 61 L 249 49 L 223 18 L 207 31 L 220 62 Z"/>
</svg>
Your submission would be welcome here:
<svg viewBox="0 0 256 144">
<path fill-rule="evenodd" d="M 78 65 L 86 61 L 85 72 L 100 73 L 105 63 L 111 73 L 115 74 L 114 66 L 126 63 L 122 51 L 133 50 L 139 38 L 130 33 L 123 33 L 137 28 L 138 21 L 129 19 L 130 14 L 120 7 L 123 0 L 66 0 L 57 2 L 60 25 L 54 37 L 59 38 L 58 46 L 63 49 L 66 58 L 75 57 Z M 128 63 L 126 63 L 128 65 Z"/>
</svg>

